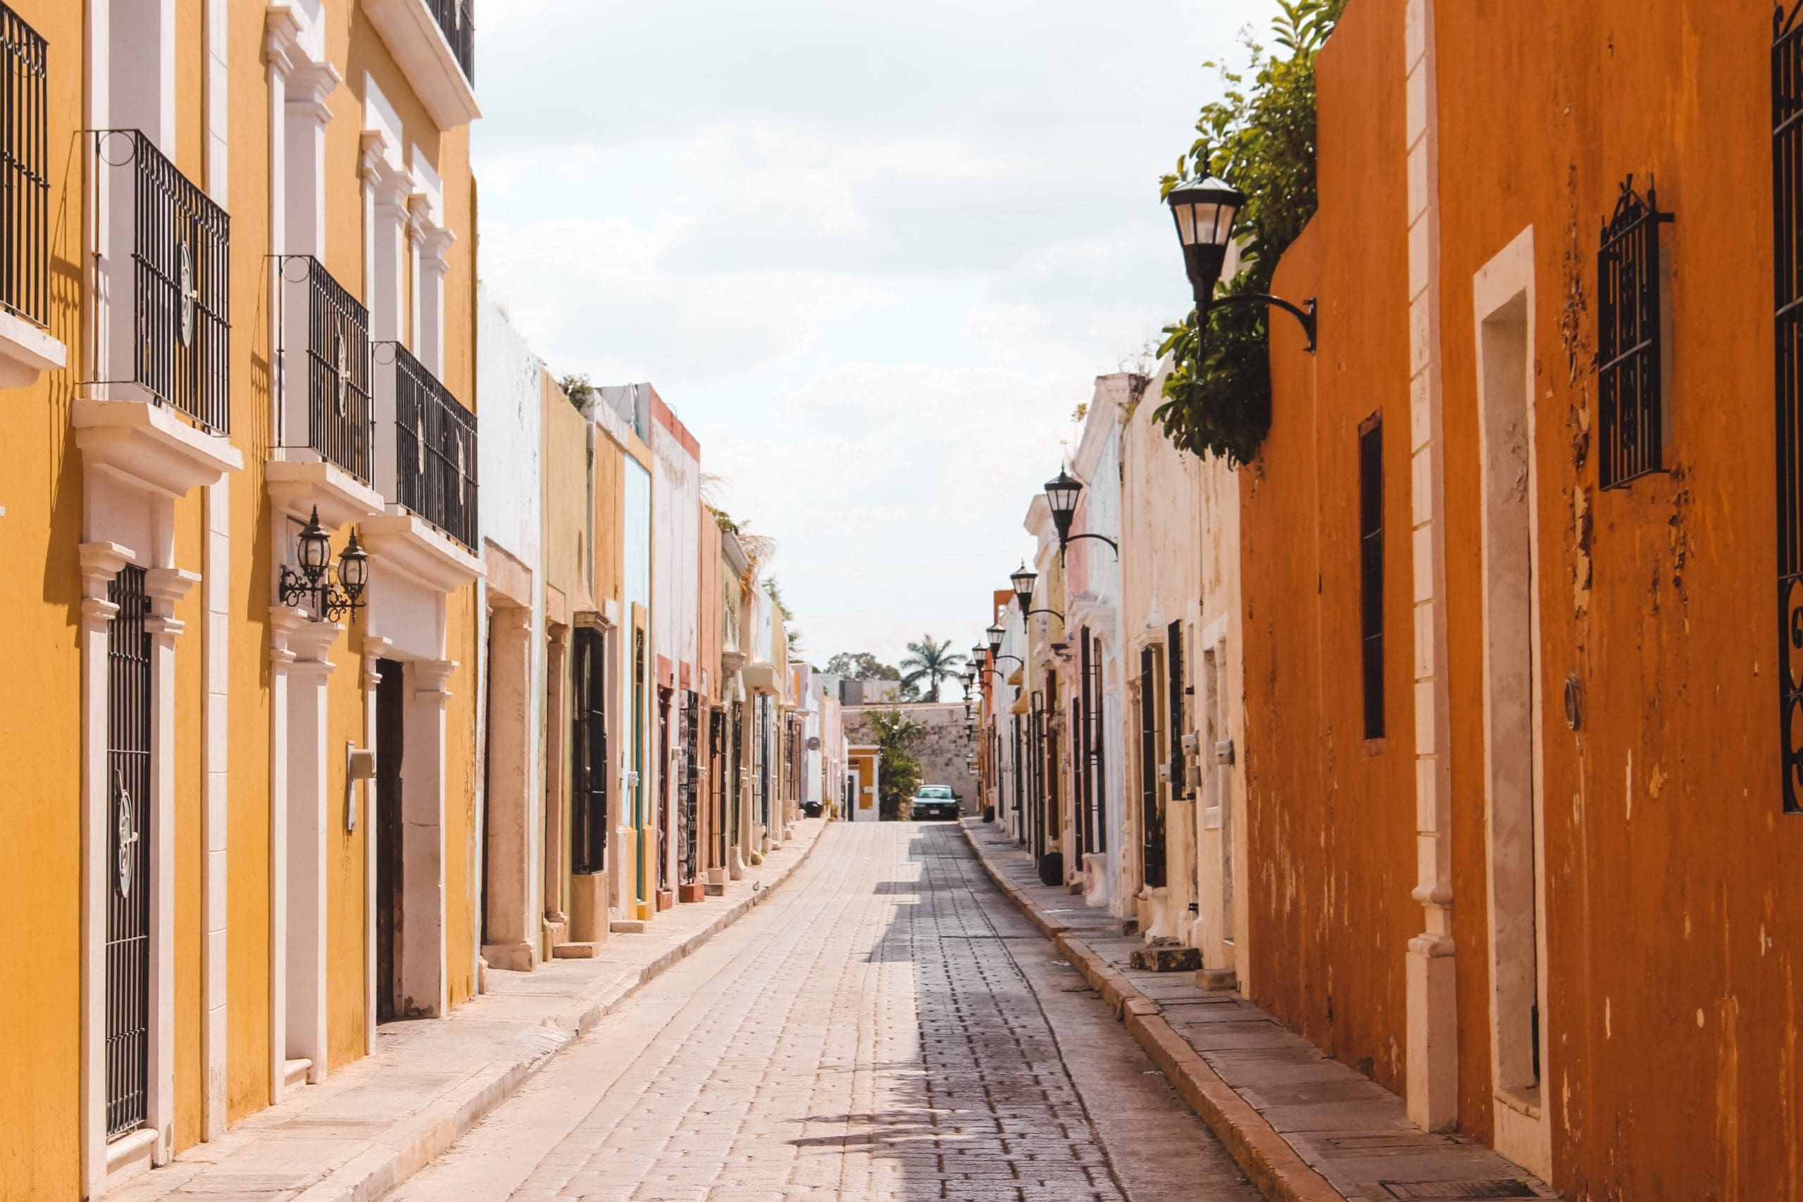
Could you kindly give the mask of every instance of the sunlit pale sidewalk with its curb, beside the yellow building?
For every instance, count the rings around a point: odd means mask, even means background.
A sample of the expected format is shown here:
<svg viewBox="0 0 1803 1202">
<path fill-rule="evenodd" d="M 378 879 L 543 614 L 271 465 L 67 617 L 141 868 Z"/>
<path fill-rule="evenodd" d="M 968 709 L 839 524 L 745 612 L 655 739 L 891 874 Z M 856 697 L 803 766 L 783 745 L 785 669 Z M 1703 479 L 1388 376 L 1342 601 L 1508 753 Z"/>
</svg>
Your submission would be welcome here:
<svg viewBox="0 0 1803 1202">
<path fill-rule="evenodd" d="M 824 827 L 804 818 L 795 838 L 723 897 L 665 910 L 642 935 L 609 935 L 591 961 L 552 961 L 532 973 L 490 970 L 489 993 L 447 1018 L 382 1025 L 373 1056 L 132 1179 L 108 1202 L 380 1198 L 640 986 L 768 897 Z"/>
</svg>

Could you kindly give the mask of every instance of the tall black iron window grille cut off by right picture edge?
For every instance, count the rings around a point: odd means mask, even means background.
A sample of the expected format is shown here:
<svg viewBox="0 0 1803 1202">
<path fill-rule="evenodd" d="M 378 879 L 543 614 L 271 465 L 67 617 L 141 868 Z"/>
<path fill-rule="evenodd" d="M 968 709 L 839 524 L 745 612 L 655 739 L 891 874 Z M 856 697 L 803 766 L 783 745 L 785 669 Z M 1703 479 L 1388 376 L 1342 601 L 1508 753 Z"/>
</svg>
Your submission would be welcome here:
<svg viewBox="0 0 1803 1202">
<path fill-rule="evenodd" d="M 1778 674 L 1783 807 L 1803 813 L 1803 0 L 1772 13 Z"/>
</svg>

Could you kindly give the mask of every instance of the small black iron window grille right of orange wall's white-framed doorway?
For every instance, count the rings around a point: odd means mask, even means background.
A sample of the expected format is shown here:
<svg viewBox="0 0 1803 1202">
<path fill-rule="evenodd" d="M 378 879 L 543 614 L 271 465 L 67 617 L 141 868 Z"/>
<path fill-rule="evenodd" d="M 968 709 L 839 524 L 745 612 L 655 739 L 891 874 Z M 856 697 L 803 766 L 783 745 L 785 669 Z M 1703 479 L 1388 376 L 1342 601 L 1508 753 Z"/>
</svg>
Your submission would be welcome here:
<svg viewBox="0 0 1803 1202">
<path fill-rule="evenodd" d="M 1634 177 L 1621 184 L 1596 252 L 1597 296 L 1597 474 L 1603 488 L 1664 469 L 1664 380 L 1661 371 L 1659 211 L 1652 186 L 1643 200 Z"/>
</svg>

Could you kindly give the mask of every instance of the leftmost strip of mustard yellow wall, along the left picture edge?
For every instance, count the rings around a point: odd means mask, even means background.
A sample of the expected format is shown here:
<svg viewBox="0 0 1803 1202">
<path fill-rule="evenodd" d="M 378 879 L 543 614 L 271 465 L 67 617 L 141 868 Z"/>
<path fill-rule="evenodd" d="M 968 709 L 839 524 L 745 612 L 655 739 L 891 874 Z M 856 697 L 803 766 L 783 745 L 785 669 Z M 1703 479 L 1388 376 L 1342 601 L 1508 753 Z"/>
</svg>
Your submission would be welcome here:
<svg viewBox="0 0 1803 1202">
<path fill-rule="evenodd" d="M 79 362 L 81 5 L 18 0 L 49 41 L 50 333 Z M 0 1198 L 72 1197 L 81 1058 L 81 472 L 76 373 L 0 391 Z M 29 933 L 29 935 L 27 935 Z"/>
</svg>

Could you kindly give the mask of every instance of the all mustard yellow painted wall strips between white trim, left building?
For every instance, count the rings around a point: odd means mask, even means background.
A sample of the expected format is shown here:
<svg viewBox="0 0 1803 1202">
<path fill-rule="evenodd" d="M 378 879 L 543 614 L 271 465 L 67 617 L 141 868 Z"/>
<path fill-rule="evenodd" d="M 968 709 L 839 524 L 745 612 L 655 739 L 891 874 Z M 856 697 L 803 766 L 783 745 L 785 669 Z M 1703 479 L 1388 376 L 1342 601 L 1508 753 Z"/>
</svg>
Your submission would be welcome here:
<svg viewBox="0 0 1803 1202">
<path fill-rule="evenodd" d="M 69 348 L 70 368 L 29 389 L 0 391 L 0 912 L 32 932 L 0 966 L 0 1198 L 74 1197 L 79 1182 L 79 600 L 81 467 L 69 427 L 79 339 L 81 198 L 87 142 L 83 114 L 83 4 L 13 0 L 49 41 L 50 146 L 50 332 Z M 364 72 L 395 105 L 411 142 L 435 164 L 445 189 L 445 223 L 458 240 L 445 276 L 445 364 L 451 391 L 474 407 L 474 213 L 467 132 L 440 137 L 404 85 L 386 47 L 353 0 L 326 0 L 328 54 L 344 85 L 330 97 L 326 267 L 352 292 L 362 279 L 362 209 L 357 150 Z M 177 0 L 175 164 L 207 182 L 204 105 L 204 0 Z M 270 831 L 269 831 L 269 607 L 270 508 L 263 461 L 270 451 L 269 346 L 269 101 L 258 9 L 231 5 L 227 142 L 233 234 L 233 443 L 245 467 L 229 481 L 227 683 L 227 1117 L 242 1119 L 270 1099 Z M 204 569 L 204 501 L 175 506 L 175 564 Z M 175 706 L 175 1143 L 202 1132 L 206 1088 L 204 941 L 204 615 L 206 586 L 177 606 Z M 453 1004 L 472 989 L 474 942 L 474 724 L 476 622 L 472 589 L 447 606 L 445 654 L 458 660 L 447 708 L 445 840 L 447 955 Z M 332 658 L 328 788 L 343 798 L 343 746 L 362 742 L 361 624 Z M 364 831 L 335 829 L 328 843 L 330 1047 L 332 1063 L 362 1054 Z M 29 952 L 29 953 L 27 953 Z"/>
</svg>

